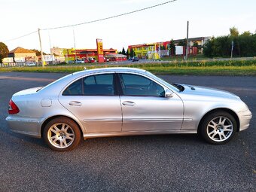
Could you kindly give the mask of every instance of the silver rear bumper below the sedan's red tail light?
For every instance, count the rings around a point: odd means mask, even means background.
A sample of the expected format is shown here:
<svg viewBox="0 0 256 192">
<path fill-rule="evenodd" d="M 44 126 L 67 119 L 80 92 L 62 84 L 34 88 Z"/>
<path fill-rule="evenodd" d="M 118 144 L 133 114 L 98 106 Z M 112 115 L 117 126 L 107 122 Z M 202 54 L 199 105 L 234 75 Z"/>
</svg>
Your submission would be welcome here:
<svg viewBox="0 0 256 192">
<path fill-rule="evenodd" d="M 41 138 L 41 123 L 43 118 L 9 115 L 6 117 L 6 120 L 9 129 L 14 133 Z"/>
</svg>

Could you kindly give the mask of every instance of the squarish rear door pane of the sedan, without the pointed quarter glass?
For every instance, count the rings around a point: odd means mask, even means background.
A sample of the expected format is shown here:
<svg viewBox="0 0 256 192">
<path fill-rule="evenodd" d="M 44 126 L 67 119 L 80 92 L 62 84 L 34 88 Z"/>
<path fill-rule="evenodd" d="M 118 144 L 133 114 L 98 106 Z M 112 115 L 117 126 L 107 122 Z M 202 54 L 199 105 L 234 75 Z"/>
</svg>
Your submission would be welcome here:
<svg viewBox="0 0 256 192">
<path fill-rule="evenodd" d="M 85 96 L 114 96 L 114 75 L 92 75 L 84 78 Z"/>
</svg>

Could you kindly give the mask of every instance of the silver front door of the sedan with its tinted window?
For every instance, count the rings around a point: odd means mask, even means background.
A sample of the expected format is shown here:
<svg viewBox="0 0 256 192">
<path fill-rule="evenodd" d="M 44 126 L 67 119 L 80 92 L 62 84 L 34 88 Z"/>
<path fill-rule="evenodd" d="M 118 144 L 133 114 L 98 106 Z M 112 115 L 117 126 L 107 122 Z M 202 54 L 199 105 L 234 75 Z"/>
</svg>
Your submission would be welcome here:
<svg viewBox="0 0 256 192">
<path fill-rule="evenodd" d="M 164 88 L 141 75 L 120 74 L 123 96 L 123 132 L 180 130 L 183 121 L 183 103 L 173 93 L 164 97 Z"/>
</svg>

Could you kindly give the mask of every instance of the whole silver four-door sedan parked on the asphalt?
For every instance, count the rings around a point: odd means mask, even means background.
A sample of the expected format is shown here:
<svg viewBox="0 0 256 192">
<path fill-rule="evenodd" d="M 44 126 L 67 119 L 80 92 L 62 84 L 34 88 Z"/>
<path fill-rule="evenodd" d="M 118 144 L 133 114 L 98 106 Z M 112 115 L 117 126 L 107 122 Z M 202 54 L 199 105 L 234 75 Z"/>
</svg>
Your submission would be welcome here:
<svg viewBox="0 0 256 192">
<path fill-rule="evenodd" d="M 132 68 L 84 70 L 22 90 L 8 112 L 12 131 L 43 138 L 56 151 L 72 150 L 81 138 L 146 134 L 200 133 L 224 144 L 251 120 L 233 93 L 168 84 Z"/>
</svg>

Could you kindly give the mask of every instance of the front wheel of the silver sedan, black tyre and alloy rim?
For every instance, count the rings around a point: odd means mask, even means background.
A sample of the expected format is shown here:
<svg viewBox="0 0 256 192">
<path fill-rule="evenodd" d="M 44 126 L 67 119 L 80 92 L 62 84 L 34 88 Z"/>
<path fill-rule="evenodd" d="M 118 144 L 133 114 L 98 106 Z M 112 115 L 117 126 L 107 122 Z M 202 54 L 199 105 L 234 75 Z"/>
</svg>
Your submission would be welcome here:
<svg viewBox="0 0 256 192">
<path fill-rule="evenodd" d="M 235 118 L 226 111 L 208 114 L 200 123 L 201 136 L 211 144 L 220 145 L 229 142 L 236 134 L 236 130 Z"/>
</svg>

